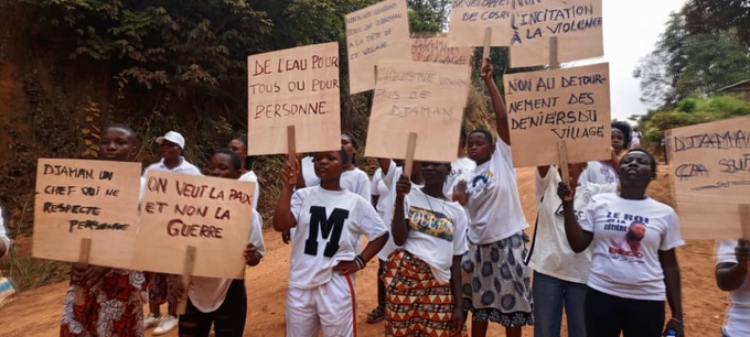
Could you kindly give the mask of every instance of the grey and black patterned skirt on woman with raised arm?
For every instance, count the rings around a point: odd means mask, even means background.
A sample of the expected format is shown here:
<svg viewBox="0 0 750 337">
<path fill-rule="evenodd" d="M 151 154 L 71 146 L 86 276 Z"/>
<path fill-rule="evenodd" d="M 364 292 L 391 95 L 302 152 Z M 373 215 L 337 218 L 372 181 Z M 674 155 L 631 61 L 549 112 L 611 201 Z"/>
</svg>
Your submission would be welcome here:
<svg viewBox="0 0 750 337">
<path fill-rule="evenodd" d="M 505 327 L 534 324 L 526 236 L 518 232 L 488 244 L 469 243 L 461 259 L 463 308 L 472 319 Z"/>
</svg>

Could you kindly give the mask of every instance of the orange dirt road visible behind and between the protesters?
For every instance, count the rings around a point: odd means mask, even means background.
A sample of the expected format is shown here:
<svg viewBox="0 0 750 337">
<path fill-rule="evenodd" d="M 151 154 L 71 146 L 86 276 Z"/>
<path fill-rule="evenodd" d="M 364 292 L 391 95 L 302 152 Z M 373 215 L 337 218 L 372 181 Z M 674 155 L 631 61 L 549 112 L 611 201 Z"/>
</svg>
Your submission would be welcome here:
<svg viewBox="0 0 750 337">
<path fill-rule="evenodd" d="M 666 170 L 660 168 L 660 172 Z M 671 199 L 665 174 L 652 184 L 650 195 L 660 200 Z M 536 217 L 534 206 L 534 171 L 518 170 L 518 189 L 526 218 L 533 226 Z M 531 232 L 531 229 L 529 229 Z M 262 262 L 246 271 L 248 294 L 248 318 L 245 336 L 283 336 L 283 305 L 289 273 L 290 247 L 272 231 L 264 232 L 267 254 Z M 718 336 L 727 307 L 726 294 L 714 281 L 714 241 L 688 241 L 678 249 L 685 324 L 688 336 Z M 383 336 L 383 324 L 364 322 L 376 303 L 376 263 L 371 263 L 357 273 L 356 295 L 358 301 L 358 336 Z M 58 334 L 60 315 L 67 283 L 57 283 L 17 294 L 0 308 L 0 336 L 55 336 Z M 667 312 L 668 315 L 668 312 Z M 150 333 L 147 333 L 150 336 Z M 165 336 L 176 336 L 172 333 Z M 492 326 L 489 336 L 503 336 L 503 329 Z M 533 336 L 533 329 L 525 327 L 523 336 Z"/>
</svg>

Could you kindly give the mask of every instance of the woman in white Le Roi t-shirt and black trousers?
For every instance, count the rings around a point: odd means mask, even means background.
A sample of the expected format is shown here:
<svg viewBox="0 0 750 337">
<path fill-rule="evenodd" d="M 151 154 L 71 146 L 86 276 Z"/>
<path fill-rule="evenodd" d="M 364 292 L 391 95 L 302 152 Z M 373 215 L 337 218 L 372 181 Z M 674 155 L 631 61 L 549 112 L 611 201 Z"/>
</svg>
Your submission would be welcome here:
<svg viewBox="0 0 750 337">
<path fill-rule="evenodd" d="M 572 200 L 562 203 L 565 232 L 576 252 L 593 246 L 586 294 L 586 330 L 596 337 L 656 337 L 666 329 L 683 336 L 679 265 L 675 248 L 685 244 L 672 207 L 645 195 L 656 162 L 640 149 L 620 160 L 620 194 L 593 196 L 580 220 Z M 558 196 L 570 188 L 560 183 Z"/>
</svg>

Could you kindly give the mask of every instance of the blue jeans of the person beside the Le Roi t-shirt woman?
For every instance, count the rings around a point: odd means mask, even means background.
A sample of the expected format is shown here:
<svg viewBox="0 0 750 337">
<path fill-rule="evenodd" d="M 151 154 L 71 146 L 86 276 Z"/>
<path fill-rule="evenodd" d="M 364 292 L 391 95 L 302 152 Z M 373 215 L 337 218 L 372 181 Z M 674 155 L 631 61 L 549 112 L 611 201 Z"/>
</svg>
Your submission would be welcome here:
<svg viewBox="0 0 750 337">
<path fill-rule="evenodd" d="M 560 337 L 562 307 L 568 323 L 568 337 L 586 337 L 586 284 L 534 271 L 534 337 Z"/>
</svg>

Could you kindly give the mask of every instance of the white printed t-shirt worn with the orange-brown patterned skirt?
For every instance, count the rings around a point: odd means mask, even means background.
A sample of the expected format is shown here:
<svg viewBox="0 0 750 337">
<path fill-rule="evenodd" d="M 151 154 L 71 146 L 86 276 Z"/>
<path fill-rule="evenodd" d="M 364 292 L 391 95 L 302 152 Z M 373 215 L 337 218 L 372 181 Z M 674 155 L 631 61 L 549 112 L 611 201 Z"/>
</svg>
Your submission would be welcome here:
<svg viewBox="0 0 750 337">
<path fill-rule="evenodd" d="M 449 283 L 453 256 L 469 250 L 463 207 L 411 189 L 404 198 L 404 216 L 408 220 L 404 249 L 427 262 L 439 283 Z"/>
</svg>

